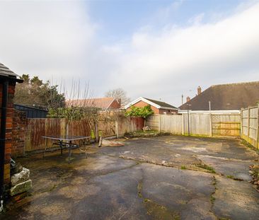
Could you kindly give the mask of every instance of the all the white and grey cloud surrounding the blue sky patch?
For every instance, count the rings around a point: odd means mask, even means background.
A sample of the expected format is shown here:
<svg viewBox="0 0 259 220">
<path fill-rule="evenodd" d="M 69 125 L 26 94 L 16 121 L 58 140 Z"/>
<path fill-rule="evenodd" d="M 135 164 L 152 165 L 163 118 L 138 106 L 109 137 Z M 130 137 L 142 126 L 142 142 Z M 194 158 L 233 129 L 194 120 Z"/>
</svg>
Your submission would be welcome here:
<svg viewBox="0 0 259 220">
<path fill-rule="evenodd" d="M 100 95 L 120 87 L 132 98 L 173 105 L 199 85 L 259 80 L 259 4 L 207 23 L 200 14 L 184 28 L 167 23 L 154 30 L 147 24 L 115 45 L 98 42 L 100 24 L 87 9 L 81 1 L 1 2 L 0 62 L 17 74 L 57 83 L 90 81 Z"/>
</svg>

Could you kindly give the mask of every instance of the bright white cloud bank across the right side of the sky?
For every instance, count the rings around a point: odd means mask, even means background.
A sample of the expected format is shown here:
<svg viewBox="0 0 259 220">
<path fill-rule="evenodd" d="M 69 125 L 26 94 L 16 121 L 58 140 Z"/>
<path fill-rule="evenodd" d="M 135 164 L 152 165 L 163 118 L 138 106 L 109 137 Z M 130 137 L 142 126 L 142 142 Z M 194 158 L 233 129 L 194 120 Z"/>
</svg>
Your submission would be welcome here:
<svg viewBox="0 0 259 220">
<path fill-rule="evenodd" d="M 113 84 L 130 79 L 125 88 L 132 96 L 179 105 L 180 95 L 187 95 L 189 88 L 195 92 L 199 85 L 258 80 L 259 4 L 216 23 L 202 24 L 201 18 L 187 28 L 167 28 L 159 35 L 134 33 L 127 45 L 130 52 L 120 54 Z"/>
</svg>

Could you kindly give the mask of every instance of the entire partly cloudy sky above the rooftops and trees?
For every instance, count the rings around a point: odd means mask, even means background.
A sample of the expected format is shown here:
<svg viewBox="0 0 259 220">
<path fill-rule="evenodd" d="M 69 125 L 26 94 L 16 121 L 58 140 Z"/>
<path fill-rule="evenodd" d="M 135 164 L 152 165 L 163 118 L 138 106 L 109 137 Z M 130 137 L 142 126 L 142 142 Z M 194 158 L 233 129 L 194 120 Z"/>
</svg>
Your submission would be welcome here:
<svg viewBox="0 0 259 220">
<path fill-rule="evenodd" d="M 123 88 L 178 107 L 259 81 L 259 1 L 0 1 L 0 62 L 96 97 Z"/>
</svg>

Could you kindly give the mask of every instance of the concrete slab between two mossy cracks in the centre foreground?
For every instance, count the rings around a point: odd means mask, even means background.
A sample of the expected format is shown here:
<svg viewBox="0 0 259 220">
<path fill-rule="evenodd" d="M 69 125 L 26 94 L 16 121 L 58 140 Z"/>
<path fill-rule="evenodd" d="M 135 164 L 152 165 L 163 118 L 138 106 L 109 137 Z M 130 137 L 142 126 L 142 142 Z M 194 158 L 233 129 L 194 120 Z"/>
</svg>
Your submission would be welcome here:
<svg viewBox="0 0 259 220">
<path fill-rule="evenodd" d="M 209 173 L 180 170 L 142 163 L 144 170 L 142 195 L 175 212 L 181 219 L 207 216 L 210 212 L 210 195 L 214 193 L 214 177 Z"/>
</svg>

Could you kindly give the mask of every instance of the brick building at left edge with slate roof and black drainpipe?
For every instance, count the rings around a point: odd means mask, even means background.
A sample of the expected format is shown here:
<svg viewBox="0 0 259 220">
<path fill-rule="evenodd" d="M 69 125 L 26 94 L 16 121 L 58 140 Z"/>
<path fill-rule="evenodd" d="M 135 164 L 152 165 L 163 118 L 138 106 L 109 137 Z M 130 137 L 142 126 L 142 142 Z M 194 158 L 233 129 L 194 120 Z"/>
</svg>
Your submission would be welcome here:
<svg viewBox="0 0 259 220">
<path fill-rule="evenodd" d="M 11 149 L 13 138 L 13 96 L 16 83 L 23 80 L 18 75 L 0 63 L 0 211 L 6 190 L 11 181 Z"/>
</svg>

